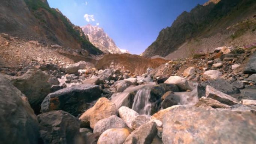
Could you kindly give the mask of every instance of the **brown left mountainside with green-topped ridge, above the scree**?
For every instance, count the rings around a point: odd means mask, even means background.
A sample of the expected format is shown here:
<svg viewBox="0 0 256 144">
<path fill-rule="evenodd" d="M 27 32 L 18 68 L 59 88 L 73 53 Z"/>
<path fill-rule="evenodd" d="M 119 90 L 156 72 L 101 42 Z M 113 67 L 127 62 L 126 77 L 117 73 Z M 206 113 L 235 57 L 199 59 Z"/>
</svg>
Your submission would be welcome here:
<svg viewBox="0 0 256 144">
<path fill-rule="evenodd" d="M 79 27 L 58 9 L 50 8 L 46 0 L 2 0 L 0 8 L 1 33 L 65 48 L 85 49 L 91 54 L 102 53 Z"/>
</svg>

